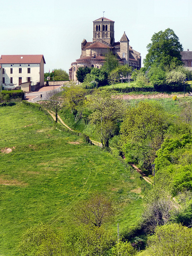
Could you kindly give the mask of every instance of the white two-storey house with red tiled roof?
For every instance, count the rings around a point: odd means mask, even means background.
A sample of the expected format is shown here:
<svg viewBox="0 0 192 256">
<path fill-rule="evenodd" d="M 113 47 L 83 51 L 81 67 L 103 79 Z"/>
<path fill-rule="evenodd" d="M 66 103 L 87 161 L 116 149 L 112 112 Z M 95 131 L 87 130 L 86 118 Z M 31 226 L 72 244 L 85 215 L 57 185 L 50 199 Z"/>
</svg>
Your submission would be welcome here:
<svg viewBox="0 0 192 256">
<path fill-rule="evenodd" d="M 43 55 L 2 55 L 0 58 L 0 85 L 14 89 L 31 82 L 36 88 L 44 85 Z"/>
</svg>

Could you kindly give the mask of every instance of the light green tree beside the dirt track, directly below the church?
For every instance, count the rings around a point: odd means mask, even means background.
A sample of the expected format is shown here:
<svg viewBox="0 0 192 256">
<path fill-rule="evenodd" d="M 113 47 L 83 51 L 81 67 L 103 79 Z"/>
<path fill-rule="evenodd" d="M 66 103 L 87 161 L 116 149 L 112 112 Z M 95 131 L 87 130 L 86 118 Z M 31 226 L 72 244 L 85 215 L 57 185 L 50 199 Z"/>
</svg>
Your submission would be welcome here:
<svg viewBox="0 0 192 256">
<path fill-rule="evenodd" d="M 118 122 L 124 114 L 124 102 L 107 90 L 96 91 L 90 95 L 88 102 L 93 111 L 90 122 L 96 124 L 102 146 L 108 148 L 109 140 L 115 135 Z"/>
</svg>

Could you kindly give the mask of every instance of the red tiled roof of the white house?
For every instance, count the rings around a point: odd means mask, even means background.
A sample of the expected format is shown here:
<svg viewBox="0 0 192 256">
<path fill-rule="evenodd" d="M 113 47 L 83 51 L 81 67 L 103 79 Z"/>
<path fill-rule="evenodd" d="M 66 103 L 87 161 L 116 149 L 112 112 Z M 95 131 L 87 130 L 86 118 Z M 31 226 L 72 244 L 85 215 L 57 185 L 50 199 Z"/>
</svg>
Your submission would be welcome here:
<svg viewBox="0 0 192 256">
<path fill-rule="evenodd" d="M 41 55 L 2 55 L 0 58 L 1 64 L 28 64 L 28 63 L 40 63 L 43 58 L 44 64 L 45 59 L 44 56 Z"/>
</svg>

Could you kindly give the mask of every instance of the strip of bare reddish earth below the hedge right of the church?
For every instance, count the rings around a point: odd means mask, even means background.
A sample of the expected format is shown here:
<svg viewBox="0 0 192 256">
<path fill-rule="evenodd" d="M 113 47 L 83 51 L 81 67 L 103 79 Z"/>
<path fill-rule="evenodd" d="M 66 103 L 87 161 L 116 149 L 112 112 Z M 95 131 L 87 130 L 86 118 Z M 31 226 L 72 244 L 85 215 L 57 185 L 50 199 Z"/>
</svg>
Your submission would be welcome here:
<svg viewBox="0 0 192 256">
<path fill-rule="evenodd" d="M 134 94 L 123 94 L 122 98 L 124 100 L 134 100 L 134 99 L 160 99 L 160 98 L 172 98 L 174 96 L 174 94 L 167 94 L 167 93 L 158 93 L 158 94 L 148 94 L 148 95 L 144 95 L 144 94 L 138 94 L 138 95 L 134 95 Z M 182 94 L 178 94 L 177 95 L 178 98 L 183 97 Z"/>
</svg>

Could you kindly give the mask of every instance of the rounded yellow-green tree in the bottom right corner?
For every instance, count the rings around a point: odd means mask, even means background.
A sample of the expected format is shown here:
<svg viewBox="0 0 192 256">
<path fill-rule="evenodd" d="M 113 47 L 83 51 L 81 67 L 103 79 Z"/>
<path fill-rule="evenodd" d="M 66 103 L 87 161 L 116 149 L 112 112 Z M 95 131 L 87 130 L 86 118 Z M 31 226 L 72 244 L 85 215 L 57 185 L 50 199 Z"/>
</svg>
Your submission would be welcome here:
<svg viewBox="0 0 192 256">
<path fill-rule="evenodd" d="M 176 223 L 160 226 L 148 246 L 149 256 L 192 256 L 192 230 Z"/>
</svg>

